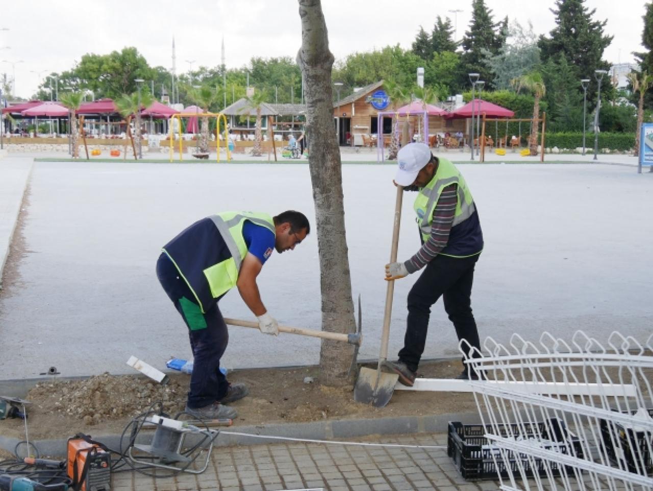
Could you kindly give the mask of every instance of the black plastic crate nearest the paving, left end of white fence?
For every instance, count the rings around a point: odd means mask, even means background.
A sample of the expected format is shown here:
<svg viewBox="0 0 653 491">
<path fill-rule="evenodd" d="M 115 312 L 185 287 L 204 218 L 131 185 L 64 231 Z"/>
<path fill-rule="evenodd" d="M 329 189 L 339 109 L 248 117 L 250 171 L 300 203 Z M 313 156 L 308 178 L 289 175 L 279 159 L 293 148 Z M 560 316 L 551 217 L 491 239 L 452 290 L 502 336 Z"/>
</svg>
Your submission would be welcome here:
<svg viewBox="0 0 653 491">
<path fill-rule="evenodd" d="M 512 434 L 521 437 L 535 437 L 541 435 L 552 442 L 550 447 L 547 448 L 555 446 L 563 454 L 569 454 L 569 445 L 571 445 L 573 454 L 582 457 L 579 438 L 568 432 L 564 423 L 558 419 L 551 419 L 548 425 L 545 422 L 529 422 L 525 423 L 523 428 L 520 428 L 518 424 L 499 424 L 498 427 L 502 436 Z M 464 479 L 468 481 L 498 479 L 499 474 L 501 474 L 501 477 L 509 477 L 509 470 L 519 472 L 518 462 L 522 463 L 526 475 L 529 477 L 532 477 L 535 473 L 542 476 L 546 475 L 547 464 L 539 458 L 534 459 L 535 469 L 533 469 L 531 460 L 526 454 L 518 454 L 516 457 L 514 452 L 505 451 L 508 456 L 508 462 L 505 462 L 498 447 L 494 447 L 492 442 L 489 442 L 484 436 L 486 433 L 492 432 L 492 426 L 490 425 L 449 422 L 447 454 L 453 459 Z M 496 456 L 496 464 L 492 454 Z M 560 464 L 549 462 L 549 467 L 553 475 L 560 475 Z"/>
</svg>

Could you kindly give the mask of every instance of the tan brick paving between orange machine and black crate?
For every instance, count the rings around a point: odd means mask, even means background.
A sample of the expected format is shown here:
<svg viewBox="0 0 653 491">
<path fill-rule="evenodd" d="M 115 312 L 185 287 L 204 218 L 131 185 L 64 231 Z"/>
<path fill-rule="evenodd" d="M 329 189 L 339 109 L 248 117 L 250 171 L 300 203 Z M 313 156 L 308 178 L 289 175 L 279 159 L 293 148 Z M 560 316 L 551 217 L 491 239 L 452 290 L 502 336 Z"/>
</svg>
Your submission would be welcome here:
<svg viewBox="0 0 653 491">
<path fill-rule="evenodd" d="M 447 456 L 445 434 L 366 437 L 355 446 L 338 443 L 279 442 L 216 447 L 199 475 L 153 479 L 134 472 L 114 473 L 112 491 L 129 490 L 441 490 L 498 489 L 493 481 L 465 481 Z M 415 447 L 392 447 L 415 445 Z"/>
</svg>

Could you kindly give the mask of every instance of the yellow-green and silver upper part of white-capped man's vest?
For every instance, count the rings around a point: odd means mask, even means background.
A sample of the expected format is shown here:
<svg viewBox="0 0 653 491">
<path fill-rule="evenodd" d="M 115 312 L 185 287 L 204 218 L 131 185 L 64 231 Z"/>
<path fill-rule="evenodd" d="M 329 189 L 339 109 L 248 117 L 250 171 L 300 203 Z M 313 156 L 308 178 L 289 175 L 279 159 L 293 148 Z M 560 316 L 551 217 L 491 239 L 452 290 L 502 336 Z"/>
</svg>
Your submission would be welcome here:
<svg viewBox="0 0 653 491">
<path fill-rule="evenodd" d="M 433 223 L 433 211 L 438 203 L 442 190 L 451 184 L 456 184 L 458 189 L 458 200 L 454 214 L 452 227 L 468 219 L 475 211 L 476 206 L 471 197 L 470 189 L 458 169 L 447 159 L 439 159 L 438 170 L 433 179 L 424 186 L 415 198 L 415 212 L 417 223 L 424 242 L 431 236 Z M 423 215 L 422 215 L 423 214 Z"/>
</svg>

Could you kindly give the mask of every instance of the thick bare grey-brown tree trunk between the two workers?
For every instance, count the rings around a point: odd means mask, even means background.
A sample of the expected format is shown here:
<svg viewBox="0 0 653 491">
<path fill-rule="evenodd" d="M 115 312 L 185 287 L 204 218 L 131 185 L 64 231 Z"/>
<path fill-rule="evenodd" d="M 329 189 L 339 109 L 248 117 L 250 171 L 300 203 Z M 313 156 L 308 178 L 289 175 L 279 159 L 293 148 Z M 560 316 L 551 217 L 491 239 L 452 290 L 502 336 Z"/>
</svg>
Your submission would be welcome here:
<svg viewBox="0 0 653 491">
<path fill-rule="evenodd" d="M 302 20 L 302 48 L 297 63 L 304 77 L 306 137 L 311 142 L 308 159 L 313 183 L 317 247 L 320 261 L 322 330 L 353 332 L 354 306 L 345 234 L 342 172 L 338 140 L 333 132 L 331 69 L 334 57 L 328 49 L 327 25 L 320 0 L 298 0 Z M 383 136 L 380 136 L 383 138 Z M 321 381 L 347 385 L 353 346 L 322 341 Z M 356 376 L 357 373 L 353 373 Z"/>
</svg>

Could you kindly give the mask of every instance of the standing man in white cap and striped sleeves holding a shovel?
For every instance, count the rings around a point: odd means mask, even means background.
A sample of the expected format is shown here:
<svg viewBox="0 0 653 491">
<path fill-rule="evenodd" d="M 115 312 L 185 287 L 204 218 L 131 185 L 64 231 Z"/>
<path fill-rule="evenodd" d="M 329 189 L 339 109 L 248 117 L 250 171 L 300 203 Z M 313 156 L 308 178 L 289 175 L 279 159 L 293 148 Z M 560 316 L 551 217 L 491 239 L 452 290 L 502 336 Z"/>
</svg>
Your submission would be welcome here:
<svg viewBox="0 0 653 491">
<path fill-rule="evenodd" d="M 474 266 L 483 250 L 483 232 L 471 191 L 458 169 L 447 159 L 435 157 L 423 143 L 410 143 L 397 154 L 396 185 L 419 191 L 415 198 L 422 247 L 405 262 L 385 266 L 392 281 L 422 271 L 408 294 L 408 319 L 404 347 L 397 362 L 385 367 L 412 386 L 424 352 L 431 306 L 443 297 L 445 311 L 456 328 L 458 340 L 480 348 L 471 313 Z M 478 379 L 463 370 L 458 379 Z"/>
</svg>

